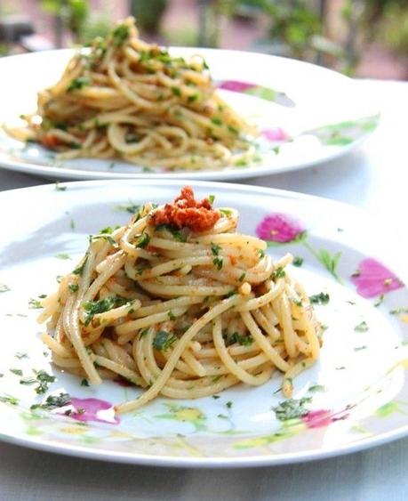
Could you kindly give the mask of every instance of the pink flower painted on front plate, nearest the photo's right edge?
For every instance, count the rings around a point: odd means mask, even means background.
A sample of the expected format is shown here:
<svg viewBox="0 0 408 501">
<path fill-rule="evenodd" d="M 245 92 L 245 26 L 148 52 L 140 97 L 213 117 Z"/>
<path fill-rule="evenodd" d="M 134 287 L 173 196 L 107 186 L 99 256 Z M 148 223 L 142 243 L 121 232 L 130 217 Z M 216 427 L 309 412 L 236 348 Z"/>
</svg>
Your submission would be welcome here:
<svg viewBox="0 0 408 501">
<path fill-rule="evenodd" d="M 404 287 L 396 275 L 372 257 L 359 263 L 358 270 L 351 276 L 357 293 L 363 297 L 375 297 L 391 290 Z"/>
</svg>

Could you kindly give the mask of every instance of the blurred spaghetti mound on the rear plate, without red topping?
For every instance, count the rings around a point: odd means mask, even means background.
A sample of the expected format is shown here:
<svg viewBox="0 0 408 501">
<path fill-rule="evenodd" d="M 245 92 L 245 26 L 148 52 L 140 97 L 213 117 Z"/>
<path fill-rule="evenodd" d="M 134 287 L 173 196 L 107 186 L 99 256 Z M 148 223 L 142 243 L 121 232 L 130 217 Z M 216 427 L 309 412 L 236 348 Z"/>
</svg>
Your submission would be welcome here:
<svg viewBox="0 0 408 501">
<path fill-rule="evenodd" d="M 172 57 L 140 40 L 134 20 L 69 61 L 38 94 L 28 129 L 57 158 L 123 158 L 164 169 L 215 169 L 254 158 L 257 131 L 221 100 L 200 56 Z"/>
</svg>

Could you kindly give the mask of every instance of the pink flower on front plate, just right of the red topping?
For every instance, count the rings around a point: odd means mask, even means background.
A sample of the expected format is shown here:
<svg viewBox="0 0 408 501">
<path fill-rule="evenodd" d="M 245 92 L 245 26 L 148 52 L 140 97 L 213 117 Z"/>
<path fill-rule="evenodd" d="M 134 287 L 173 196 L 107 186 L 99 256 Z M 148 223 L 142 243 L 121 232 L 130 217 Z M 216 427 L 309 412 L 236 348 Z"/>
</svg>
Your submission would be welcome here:
<svg viewBox="0 0 408 501">
<path fill-rule="evenodd" d="M 300 237 L 303 228 L 300 223 L 286 214 L 269 214 L 256 227 L 256 234 L 263 240 L 286 243 Z"/>
</svg>

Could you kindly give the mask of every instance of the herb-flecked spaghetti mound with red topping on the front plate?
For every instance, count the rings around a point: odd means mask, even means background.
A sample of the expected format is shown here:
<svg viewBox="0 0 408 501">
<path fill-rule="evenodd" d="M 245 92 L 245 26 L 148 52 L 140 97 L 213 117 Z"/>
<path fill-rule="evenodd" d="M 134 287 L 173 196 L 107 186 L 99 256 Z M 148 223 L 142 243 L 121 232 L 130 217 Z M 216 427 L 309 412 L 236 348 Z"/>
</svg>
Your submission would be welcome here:
<svg viewBox="0 0 408 501">
<path fill-rule="evenodd" d="M 42 339 L 56 366 L 125 378 L 157 395 L 196 399 L 239 383 L 292 378 L 318 358 L 321 327 L 308 295 L 266 243 L 236 231 L 232 208 L 214 209 L 184 187 L 172 204 L 140 206 L 130 222 L 90 237 L 76 269 L 43 300 Z"/>
</svg>

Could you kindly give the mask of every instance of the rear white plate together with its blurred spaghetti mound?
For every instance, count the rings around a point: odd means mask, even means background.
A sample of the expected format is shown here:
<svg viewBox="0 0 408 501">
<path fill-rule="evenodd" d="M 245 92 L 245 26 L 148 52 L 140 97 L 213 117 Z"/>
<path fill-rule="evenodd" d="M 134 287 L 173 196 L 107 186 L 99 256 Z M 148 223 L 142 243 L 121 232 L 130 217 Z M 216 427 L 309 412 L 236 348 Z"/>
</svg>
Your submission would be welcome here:
<svg viewBox="0 0 408 501">
<path fill-rule="evenodd" d="M 166 49 L 141 40 L 132 18 L 90 47 L 3 58 L 0 69 L 1 165 L 59 179 L 273 174 L 346 153 L 379 120 L 348 77 Z"/>
</svg>

